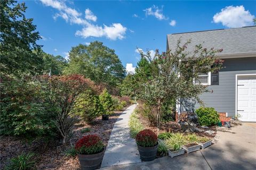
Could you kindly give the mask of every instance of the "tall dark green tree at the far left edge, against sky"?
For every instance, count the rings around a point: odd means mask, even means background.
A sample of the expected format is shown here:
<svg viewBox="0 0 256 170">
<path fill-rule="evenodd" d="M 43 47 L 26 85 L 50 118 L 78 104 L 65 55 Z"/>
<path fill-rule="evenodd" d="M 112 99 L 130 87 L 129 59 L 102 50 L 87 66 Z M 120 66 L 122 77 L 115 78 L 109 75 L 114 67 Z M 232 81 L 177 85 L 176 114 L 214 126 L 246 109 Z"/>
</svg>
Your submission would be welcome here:
<svg viewBox="0 0 256 170">
<path fill-rule="evenodd" d="M 41 46 L 36 44 L 41 36 L 33 19 L 25 17 L 25 3 L 16 3 L 13 0 L 0 1 L 0 69 L 5 74 L 35 74 L 42 70 L 43 60 L 38 55 Z"/>
</svg>

